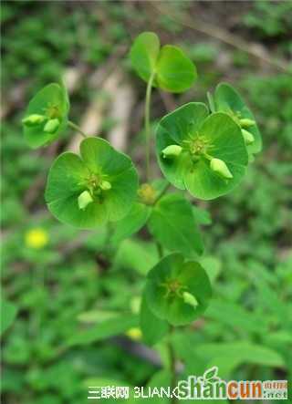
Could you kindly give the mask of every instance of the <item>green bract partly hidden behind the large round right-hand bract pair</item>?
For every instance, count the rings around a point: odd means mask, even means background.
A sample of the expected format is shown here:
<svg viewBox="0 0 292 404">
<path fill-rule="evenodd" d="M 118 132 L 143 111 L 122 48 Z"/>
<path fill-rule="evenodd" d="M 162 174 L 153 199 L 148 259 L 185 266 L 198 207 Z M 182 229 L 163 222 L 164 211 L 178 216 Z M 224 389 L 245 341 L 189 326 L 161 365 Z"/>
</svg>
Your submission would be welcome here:
<svg viewBox="0 0 292 404">
<path fill-rule="evenodd" d="M 228 83 L 220 83 L 216 87 L 214 101 L 217 111 L 231 112 L 231 116 L 237 123 L 239 122 L 238 119 L 236 119 L 236 113 L 239 113 L 242 119 L 255 120 L 252 111 L 246 106 L 243 98 L 241 98 L 235 88 Z M 248 128 L 248 131 L 253 134 L 255 141 L 247 145 L 247 150 L 249 153 L 258 153 L 262 149 L 262 138 L 256 123 Z"/>
</svg>

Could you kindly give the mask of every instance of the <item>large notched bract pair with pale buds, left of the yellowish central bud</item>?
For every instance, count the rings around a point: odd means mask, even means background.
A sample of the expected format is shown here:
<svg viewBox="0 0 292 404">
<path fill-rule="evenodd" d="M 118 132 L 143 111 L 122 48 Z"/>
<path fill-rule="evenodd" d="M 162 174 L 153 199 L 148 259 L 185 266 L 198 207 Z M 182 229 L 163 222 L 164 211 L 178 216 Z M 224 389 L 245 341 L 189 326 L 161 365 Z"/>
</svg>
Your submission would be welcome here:
<svg viewBox="0 0 292 404">
<path fill-rule="evenodd" d="M 137 172 L 130 158 L 100 138 L 80 144 L 80 157 L 61 154 L 47 178 L 46 201 L 59 221 L 90 228 L 124 217 L 135 200 Z"/>
</svg>

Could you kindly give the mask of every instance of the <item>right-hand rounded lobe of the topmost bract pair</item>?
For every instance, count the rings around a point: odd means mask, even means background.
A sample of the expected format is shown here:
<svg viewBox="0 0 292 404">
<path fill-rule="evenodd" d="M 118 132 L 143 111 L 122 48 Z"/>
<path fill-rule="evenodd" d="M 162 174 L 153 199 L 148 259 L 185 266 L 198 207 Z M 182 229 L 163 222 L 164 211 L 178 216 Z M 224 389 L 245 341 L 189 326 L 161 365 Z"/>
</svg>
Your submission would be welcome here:
<svg viewBox="0 0 292 404">
<path fill-rule="evenodd" d="M 196 68 L 179 47 L 162 47 L 157 62 L 157 84 L 159 88 L 181 93 L 193 86 L 197 78 Z"/>
</svg>

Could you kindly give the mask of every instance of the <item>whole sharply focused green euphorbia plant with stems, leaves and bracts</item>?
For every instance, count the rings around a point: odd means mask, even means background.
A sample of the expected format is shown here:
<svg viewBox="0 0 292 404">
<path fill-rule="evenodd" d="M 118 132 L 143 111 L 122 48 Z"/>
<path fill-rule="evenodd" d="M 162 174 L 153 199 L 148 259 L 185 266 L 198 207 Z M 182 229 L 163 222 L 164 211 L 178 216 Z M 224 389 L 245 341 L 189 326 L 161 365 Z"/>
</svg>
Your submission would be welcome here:
<svg viewBox="0 0 292 404">
<path fill-rule="evenodd" d="M 201 264 L 203 240 L 190 197 L 212 200 L 231 192 L 261 149 L 261 138 L 243 99 L 229 84 L 221 83 L 214 97 L 208 94 L 209 107 L 190 102 L 160 120 L 156 155 L 164 178 L 151 178 L 151 89 L 183 92 L 193 86 L 196 68 L 179 47 L 161 47 L 158 36 L 149 32 L 136 38 L 130 60 L 147 83 L 147 181 L 139 185 L 129 156 L 107 140 L 90 137 L 81 141 L 79 154 L 64 152 L 54 161 L 45 198 L 49 211 L 63 223 L 81 229 L 111 223 L 110 242 L 115 246 L 147 227 L 161 260 L 145 279 L 141 331 L 146 344 L 166 342 L 174 385 L 173 327 L 186 326 L 202 316 L 212 295 Z M 50 84 L 39 91 L 23 119 L 28 144 L 46 146 L 68 127 L 85 136 L 68 120 L 68 111 L 63 85 Z M 180 191 L 173 192 L 171 185 Z"/>
</svg>

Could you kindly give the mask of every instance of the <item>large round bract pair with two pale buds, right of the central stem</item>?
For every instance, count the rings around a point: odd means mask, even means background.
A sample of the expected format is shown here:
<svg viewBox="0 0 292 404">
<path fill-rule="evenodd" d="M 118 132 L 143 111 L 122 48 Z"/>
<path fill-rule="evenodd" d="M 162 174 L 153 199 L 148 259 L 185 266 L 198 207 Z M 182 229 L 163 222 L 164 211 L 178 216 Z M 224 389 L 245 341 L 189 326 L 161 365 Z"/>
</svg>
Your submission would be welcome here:
<svg viewBox="0 0 292 404">
<path fill-rule="evenodd" d="M 165 157 L 171 145 L 183 150 Z M 175 109 L 160 121 L 156 151 L 167 180 L 203 200 L 235 188 L 248 163 L 245 140 L 234 119 L 223 112 L 208 116 L 208 109 L 199 102 Z"/>
</svg>

